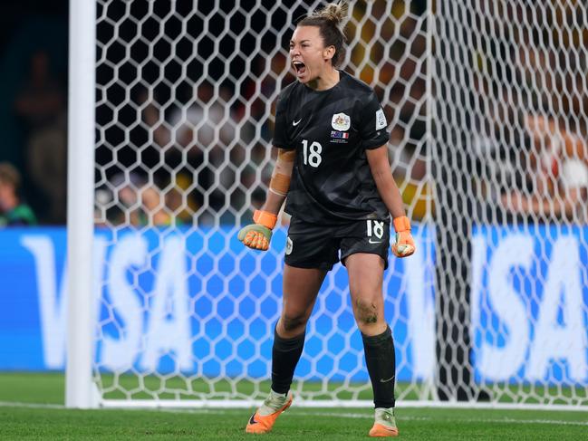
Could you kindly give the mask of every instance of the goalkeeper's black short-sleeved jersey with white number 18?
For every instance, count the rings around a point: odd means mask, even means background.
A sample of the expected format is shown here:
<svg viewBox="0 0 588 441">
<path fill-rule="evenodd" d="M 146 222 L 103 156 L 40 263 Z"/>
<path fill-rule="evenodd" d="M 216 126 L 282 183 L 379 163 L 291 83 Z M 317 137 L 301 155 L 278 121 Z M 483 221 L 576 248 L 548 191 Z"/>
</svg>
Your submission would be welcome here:
<svg viewBox="0 0 588 441">
<path fill-rule="evenodd" d="M 380 101 L 349 73 L 327 91 L 296 81 L 280 93 L 273 144 L 296 149 L 285 212 L 313 224 L 389 219 L 366 149 L 388 142 Z"/>
</svg>

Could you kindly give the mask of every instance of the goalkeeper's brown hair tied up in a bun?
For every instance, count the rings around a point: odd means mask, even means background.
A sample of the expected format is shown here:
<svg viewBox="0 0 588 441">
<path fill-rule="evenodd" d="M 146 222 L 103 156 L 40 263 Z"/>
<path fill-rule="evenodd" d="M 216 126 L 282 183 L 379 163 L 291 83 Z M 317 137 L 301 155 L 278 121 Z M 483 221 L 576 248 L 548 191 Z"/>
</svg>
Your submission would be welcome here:
<svg viewBox="0 0 588 441">
<path fill-rule="evenodd" d="M 331 62 L 333 67 L 341 64 L 345 56 L 345 34 L 342 23 L 347 18 L 348 6 L 344 0 L 330 3 L 308 14 L 306 18 L 298 22 L 298 26 L 316 26 L 323 37 L 324 46 L 334 46 L 335 53 Z"/>
</svg>

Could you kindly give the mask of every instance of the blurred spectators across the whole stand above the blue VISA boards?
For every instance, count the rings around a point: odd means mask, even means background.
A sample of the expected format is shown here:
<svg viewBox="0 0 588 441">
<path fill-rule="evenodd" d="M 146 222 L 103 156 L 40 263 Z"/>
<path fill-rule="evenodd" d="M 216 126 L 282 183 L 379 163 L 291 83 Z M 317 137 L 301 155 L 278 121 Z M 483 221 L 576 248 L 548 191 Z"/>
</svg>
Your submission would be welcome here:
<svg viewBox="0 0 588 441">
<path fill-rule="evenodd" d="M 234 224 L 263 203 L 275 92 L 294 81 L 288 26 L 313 2 L 261 0 L 247 17 L 239 3 L 198 2 L 195 14 L 192 1 L 98 1 L 98 224 Z M 489 220 L 584 223 L 586 6 L 521 2 L 501 22 L 506 3 L 481 2 L 467 18 L 482 35 L 464 60 L 470 96 L 438 96 L 465 103 L 468 167 Z M 67 4 L 0 6 L 0 225 L 65 223 Z M 375 85 L 416 219 L 434 207 L 425 11 L 425 0 L 359 1 L 348 26 L 347 70 Z"/>
</svg>

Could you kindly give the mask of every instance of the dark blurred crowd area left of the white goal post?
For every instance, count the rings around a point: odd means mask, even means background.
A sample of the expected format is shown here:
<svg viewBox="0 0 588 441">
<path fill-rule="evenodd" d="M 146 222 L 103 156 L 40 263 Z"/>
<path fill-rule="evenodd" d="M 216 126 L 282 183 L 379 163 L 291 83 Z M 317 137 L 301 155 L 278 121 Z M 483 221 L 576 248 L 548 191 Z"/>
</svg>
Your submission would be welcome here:
<svg viewBox="0 0 588 441">
<path fill-rule="evenodd" d="M 0 225 L 63 225 L 68 2 L 0 5 Z"/>
</svg>

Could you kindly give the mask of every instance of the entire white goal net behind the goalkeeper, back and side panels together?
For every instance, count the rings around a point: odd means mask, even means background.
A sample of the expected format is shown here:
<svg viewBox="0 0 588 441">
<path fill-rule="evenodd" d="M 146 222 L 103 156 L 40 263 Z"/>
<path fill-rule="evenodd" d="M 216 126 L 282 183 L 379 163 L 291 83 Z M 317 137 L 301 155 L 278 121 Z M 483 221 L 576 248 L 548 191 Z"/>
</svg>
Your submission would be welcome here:
<svg viewBox="0 0 588 441">
<path fill-rule="evenodd" d="M 343 67 L 381 100 L 418 248 L 385 273 L 397 399 L 587 406 L 586 7 L 349 3 Z M 265 398 L 288 219 L 266 253 L 236 232 L 294 23 L 321 5 L 98 0 L 97 404 Z M 347 282 L 336 265 L 308 323 L 301 405 L 371 401 Z"/>
</svg>

